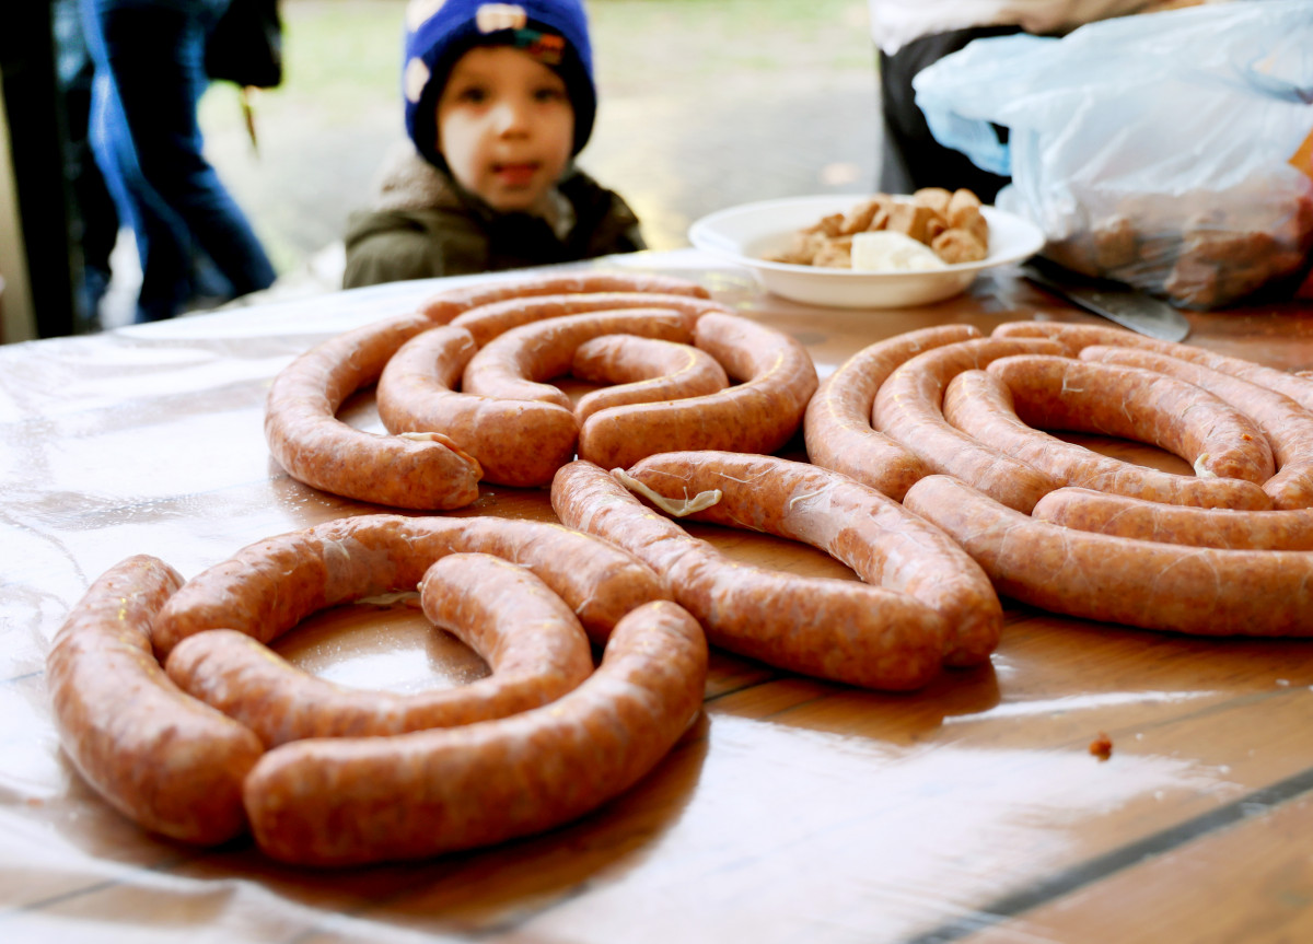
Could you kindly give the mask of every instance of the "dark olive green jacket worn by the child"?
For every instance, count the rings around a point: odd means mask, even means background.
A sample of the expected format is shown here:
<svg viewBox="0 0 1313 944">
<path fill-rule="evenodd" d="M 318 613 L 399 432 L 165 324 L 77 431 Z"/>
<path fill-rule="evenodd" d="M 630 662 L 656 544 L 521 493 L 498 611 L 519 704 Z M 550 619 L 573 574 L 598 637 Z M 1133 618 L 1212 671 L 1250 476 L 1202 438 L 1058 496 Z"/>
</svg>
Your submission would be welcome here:
<svg viewBox="0 0 1313 944">
<path fill-rule="evenodd" d="M 558 185 L 557 225 L 499 214 L 418 154 L 394 160 L 377 204 L 351 215 L 343 288 L 572 263 L 646 248 L 625 201 L 579 169 Z"/>
</svg>

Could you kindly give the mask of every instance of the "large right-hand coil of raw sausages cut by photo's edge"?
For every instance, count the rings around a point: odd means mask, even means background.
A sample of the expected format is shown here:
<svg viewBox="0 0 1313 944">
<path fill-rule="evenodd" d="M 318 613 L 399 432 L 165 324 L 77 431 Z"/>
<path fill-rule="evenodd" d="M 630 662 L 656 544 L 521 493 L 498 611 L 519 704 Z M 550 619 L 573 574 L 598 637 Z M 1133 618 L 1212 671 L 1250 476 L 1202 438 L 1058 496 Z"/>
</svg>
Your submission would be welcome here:
<svg viewBox="0 0 1313 944">
<path fill-rule="evenodd" d="M 1297 402 L 1308 378 L 1095 324 L 1004 323 L 934 345 L 927 333 L 872 345 L 821 386 L 814 462 L 861 478 L 869 433 L 853 403 L 871 397 L 872 429 L 934 473 L 907 474 L 903 505 L 952 534 L 998 592 L 1150 629 L 1313 633 L 1313 414 Z M 1036 340 L 1046 347 L 1007 348 Z M 1146 442 L 1196 474 L 1117 462 L 1043 429 Z M 871 462 L 868 481 L 902 487 Z M 721 513 L 763 526 L 756 509 Z M 1272 597 L 1280 605 L 1262 603 Z"/>
</svg>

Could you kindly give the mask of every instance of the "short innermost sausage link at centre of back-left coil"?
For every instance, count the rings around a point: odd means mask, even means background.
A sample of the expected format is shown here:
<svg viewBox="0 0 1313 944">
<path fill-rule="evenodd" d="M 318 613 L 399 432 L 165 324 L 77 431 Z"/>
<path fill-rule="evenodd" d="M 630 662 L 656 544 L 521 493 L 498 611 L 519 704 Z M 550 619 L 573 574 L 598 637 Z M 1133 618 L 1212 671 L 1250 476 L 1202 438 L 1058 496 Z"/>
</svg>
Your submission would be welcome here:
<svg viewBox="0 0 1313 944">
<path fill-rule="evenodd" d="M 599 410 L 705 397 L 730 385 L 725 368 L 705 351 L 635 335 L 584 341 L 575 349 L 570 373 L 582 381 L 612 385 L 575 402 L 575 420 L 580 424 Z"/>
</svg>

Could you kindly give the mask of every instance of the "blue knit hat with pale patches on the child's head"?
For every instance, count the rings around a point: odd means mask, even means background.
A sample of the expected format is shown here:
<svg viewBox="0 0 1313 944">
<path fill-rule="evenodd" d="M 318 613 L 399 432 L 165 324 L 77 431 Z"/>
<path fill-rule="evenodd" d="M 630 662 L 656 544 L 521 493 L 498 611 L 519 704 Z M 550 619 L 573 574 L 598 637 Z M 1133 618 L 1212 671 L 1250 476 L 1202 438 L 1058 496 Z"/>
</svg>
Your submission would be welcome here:
<svg viewBox="0 0 1313 944">
<path fill-rule="evenodd" d="M 406 133 L 431 163 L 437 150 L 437 101 L 456 60 L 474 46 L 515 46 L 555 71 L 574 106 L 574 154 L 592 134 L 597 93 L 582 0 L 411 0 L 406 8 L 402 96 Z"/>
</svg>

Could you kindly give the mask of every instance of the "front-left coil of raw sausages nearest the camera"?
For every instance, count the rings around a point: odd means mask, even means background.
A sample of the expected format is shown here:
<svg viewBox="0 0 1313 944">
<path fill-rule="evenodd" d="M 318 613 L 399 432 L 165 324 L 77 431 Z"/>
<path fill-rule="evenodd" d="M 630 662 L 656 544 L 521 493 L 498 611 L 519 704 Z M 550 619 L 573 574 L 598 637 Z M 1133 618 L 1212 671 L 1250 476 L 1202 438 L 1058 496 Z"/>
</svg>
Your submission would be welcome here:
<svg viewBox="0 0 1313 944">
<path fill-rule="evenodd" d="M 312 679 L 240 671 L 315 609 L 416 584 L 425 614 L 494 666 L 450 717 L 407 716 L 421 696 L 398 722 L 382 693 L 326 698 Z M 590 641 L 605 646 L 596 671 Z M 260 729 L 274 762 L 260 767 L 260 737 L 177 688 L 152 647 Z M 214 664 L 230 658 L 235 672 Z M 47 666 L 66 750 L 134 821 L 201 844 L 251 827 L 272 856 L 339 865 L 527 835 L 628 789 L 697 716 L 706 641 L 651 569 L 586 533 L 373 515 L 248 545 L 185 584 L 129 558 L 72 609 Z"/>
</svg>

